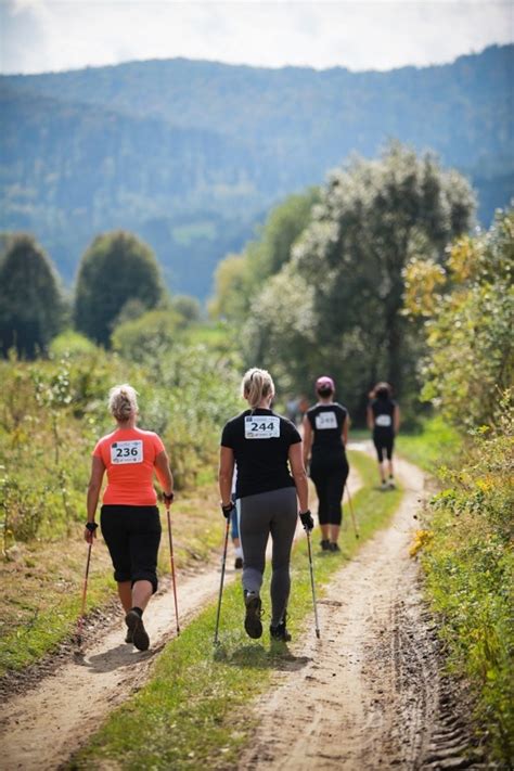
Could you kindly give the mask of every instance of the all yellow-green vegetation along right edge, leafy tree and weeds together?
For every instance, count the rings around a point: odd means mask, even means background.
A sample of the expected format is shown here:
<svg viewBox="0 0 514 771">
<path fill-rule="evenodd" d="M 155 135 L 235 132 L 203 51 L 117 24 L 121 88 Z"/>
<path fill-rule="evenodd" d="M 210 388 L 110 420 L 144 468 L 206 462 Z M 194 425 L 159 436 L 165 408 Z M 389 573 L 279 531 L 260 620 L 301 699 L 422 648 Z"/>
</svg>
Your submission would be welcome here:
<svg viewBox="0 0 514 771">
<path fill-rule="evenodd" d="M 514 759 L 513 257 L 507 213 L 489 232 L 458 241 L 444 267 L 411 264 L 407 308 L 425 319 L 424 396 L 439 417 L 399 442 L 439 479 L 422 541 L 427 594 L 449 666 L 471 683 L 483 742 L 506 766 Z"/>
</svg>

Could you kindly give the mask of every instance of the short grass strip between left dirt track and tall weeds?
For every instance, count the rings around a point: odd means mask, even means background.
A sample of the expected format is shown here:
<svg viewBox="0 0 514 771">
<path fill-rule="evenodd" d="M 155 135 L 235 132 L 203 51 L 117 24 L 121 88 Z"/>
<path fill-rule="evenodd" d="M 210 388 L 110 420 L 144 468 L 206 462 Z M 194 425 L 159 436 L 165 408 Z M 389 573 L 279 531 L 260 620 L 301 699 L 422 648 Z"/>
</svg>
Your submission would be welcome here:
<svg viewBox="0 0 514 771">
<path fill-rule="evenodd" d="M 169 571 L 166 517 L 159 573 Z M 178 498 L 172 509 L 177 565 L 201 564 L 219 545 L 218 496 L 213 483 L 194 496 Z M 0 562 L 0 676 L 34 664 L 74 634 L 80 611 L 87 545 L 82 527 L 76 538 L 20 544 L 10 562 Z M 116 593 L 108 552 L 101 536 L 93 545 L 88 612 Z"/>
</svg>

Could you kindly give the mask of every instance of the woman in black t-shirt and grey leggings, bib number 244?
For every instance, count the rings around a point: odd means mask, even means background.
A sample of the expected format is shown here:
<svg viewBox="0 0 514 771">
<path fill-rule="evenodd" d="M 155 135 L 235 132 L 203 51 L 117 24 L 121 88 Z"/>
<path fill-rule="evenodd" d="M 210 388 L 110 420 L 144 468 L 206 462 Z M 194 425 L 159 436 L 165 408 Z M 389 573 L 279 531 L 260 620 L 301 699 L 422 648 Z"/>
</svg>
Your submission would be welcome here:
<svg viewBox="0 0 514 771">
<path fill-rule="evenodd" d="M 266 370 L 248 370 L 241 384 L 248 409 L 232 417 L 221 435 L 219 490 L 221 510 L 232 514 L 231 484 L 234 464 L 236 513 L 243 549 L 243 595 L 246 633 L 262 634 L 260 589 L 266 566 L 266 547 L 272 539 L 271 626 L 272 639 L 287 642 L 287 601 L 291 591 L 290 561 L 299 517 L 311 529 L 308 484 L 296 426 L 271 410 L 274 385 Z M 291 472 L 290 472 L 291 468 Z"/>
</svg>

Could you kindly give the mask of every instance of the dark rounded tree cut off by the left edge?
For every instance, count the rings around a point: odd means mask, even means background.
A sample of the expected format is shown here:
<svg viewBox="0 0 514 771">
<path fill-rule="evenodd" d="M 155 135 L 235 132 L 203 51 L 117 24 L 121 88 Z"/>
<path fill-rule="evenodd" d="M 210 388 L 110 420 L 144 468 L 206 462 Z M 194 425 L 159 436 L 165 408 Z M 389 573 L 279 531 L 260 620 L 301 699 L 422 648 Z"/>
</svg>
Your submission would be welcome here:
<svg viewBox="0 0 514 771">
<path fill-rule="evenodd" d="M 64 299 L 59 278 L 36 241 L 12 236 L 0 261 L 0 347 L 21 357 L 44 352 L 60 331 Z"/>
</svg>

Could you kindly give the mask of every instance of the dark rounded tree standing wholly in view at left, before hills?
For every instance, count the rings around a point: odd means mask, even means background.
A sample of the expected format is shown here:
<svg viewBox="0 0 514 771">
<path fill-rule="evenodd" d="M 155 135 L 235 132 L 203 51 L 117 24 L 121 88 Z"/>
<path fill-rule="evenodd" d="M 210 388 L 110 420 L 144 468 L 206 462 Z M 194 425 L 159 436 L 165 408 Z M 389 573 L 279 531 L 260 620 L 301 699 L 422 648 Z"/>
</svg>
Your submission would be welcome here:
<svg viewBox="0 0 514 771">
<path fill-rule="evenodd" d="M 94 239 L 79 267 L 75 322 L 80 332 L 104 346 L 124 307 L 155 308 L 163 284 L 151 248 L 131 233 L 116 231 Z M 136 304 L 136 301 L 138 301 Z"/>
</svg>

